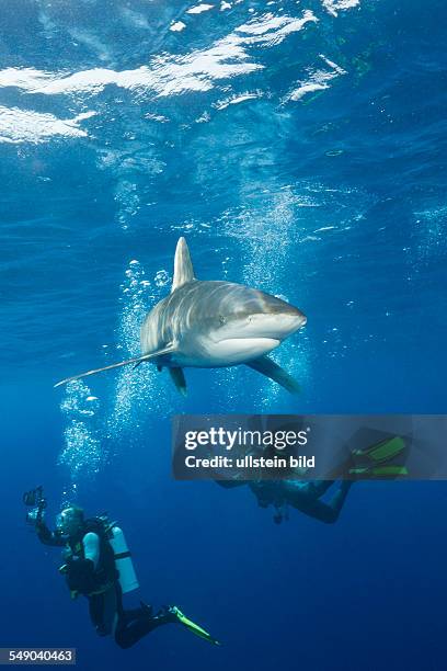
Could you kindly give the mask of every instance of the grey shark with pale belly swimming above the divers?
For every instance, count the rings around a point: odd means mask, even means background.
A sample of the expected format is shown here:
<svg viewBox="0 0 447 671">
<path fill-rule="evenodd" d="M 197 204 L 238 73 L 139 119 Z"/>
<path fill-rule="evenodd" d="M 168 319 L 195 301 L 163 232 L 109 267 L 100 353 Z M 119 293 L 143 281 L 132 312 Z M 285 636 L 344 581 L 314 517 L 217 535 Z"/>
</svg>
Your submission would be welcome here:
<svg viewBox="0 0 447 671">
<path fill-rule="evenodd" d="M 245 364 L 291 394 L 298 385 L 266 356 L 306 323 L 306 316 L 285 300 L 231 282 L 203 282 L 194 276 L 190 250 L 180 238 L 171 294 L 160 300 L 141 326 L 140 356 L 68 377 L 80 377 L 145 361 L 169 368 L 186 395 L 183 368 L 218 368 Z"/>
</svg>

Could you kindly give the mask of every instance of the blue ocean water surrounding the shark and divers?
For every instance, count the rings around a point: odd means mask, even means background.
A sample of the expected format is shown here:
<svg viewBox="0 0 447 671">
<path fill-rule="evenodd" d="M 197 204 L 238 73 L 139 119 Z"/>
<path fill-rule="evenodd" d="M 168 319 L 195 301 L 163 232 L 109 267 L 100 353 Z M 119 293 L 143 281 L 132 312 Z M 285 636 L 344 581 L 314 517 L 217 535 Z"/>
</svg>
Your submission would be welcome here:
<svg viewBox="0 0 447 671">
<path fill-rule="evenodd" d="M 249 490 L 171 477 L 177 412 L 445 411 L 446 9 L 439 0 L 5 0 L 0 24 L 0 646 L 90 670 L 444 669 L 447 489 L 355 485 L 340 521 L 277 526 Z M 146 310 L 186 237 L 199 278 L 308 317 L 250 369 L 141 365 Z M 43 484 L 110 511 L 141 596 L 180 628 L 131 650 L 24 525 Z M 137 596 L 135 598 L 137 599 Z"/>
</svg>

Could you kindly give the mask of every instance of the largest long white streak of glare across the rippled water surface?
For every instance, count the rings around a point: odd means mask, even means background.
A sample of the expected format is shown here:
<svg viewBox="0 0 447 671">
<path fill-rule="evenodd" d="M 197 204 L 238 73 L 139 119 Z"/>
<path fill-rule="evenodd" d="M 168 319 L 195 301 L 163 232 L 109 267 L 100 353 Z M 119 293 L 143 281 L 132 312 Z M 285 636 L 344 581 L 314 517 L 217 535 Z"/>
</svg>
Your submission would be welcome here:
<svg viewBox="0 0 447 671">
<path fill-rule="evenodd" d="M 182 56 L 163 53 L 154 57 L 150 65 L 131 70 L 92 68 L 70 73 L 34 68 L 7 68 L 0 70 L 0 88 L 15 87 L 31 94 L 42 95 L 95 95 L 108 86 L 116 86 L 139 95 L 156 96 L 174 95 L 185 91 L 209 91 L 219 80 L 264 68 L 264 65 L 251 59 L 248 47 L 276 46 L 287 36 L 301 31 L 308 23 L 317 21 L 317 16 L 309 10 L 303 11 L 300 18 L 274 16 L 267 13 L 240 25 L 208 48 L 195 49 Z M 180 25 L 177 27 L 180 29 Z"/>
</svg>

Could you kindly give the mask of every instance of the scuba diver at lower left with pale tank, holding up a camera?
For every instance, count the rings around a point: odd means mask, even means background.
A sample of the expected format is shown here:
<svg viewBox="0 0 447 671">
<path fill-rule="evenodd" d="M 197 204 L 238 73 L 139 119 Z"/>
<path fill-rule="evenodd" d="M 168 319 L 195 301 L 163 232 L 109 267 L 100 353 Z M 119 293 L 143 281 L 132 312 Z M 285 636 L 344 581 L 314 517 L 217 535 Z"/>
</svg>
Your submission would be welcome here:
<svg viewBox="0 0 447 671">
<path fill-rule="evenodd" d="M 123 606 L 123 594 L 137 589 L 123 531 L 106 515 L 85 519 L 77 505 L 65 508 L 50 531 L 44 520 L 46 499 L 42 487 L 23 497 L 32 510 L 26 515 L 44 545 L 65 547 L 65 576 L 70 594 L 83 594 L 89 602 L 91 621 L 100 636 L 114 636 L 121 648 L 129 648 L 153 629 L 172 623 L 182 624 L 205 640 L 220 645 L 208 632 L 188 619 L 177 606 L 163 606 L 157 614 L 144 602 L 133 610 Z"/>
</svg>

